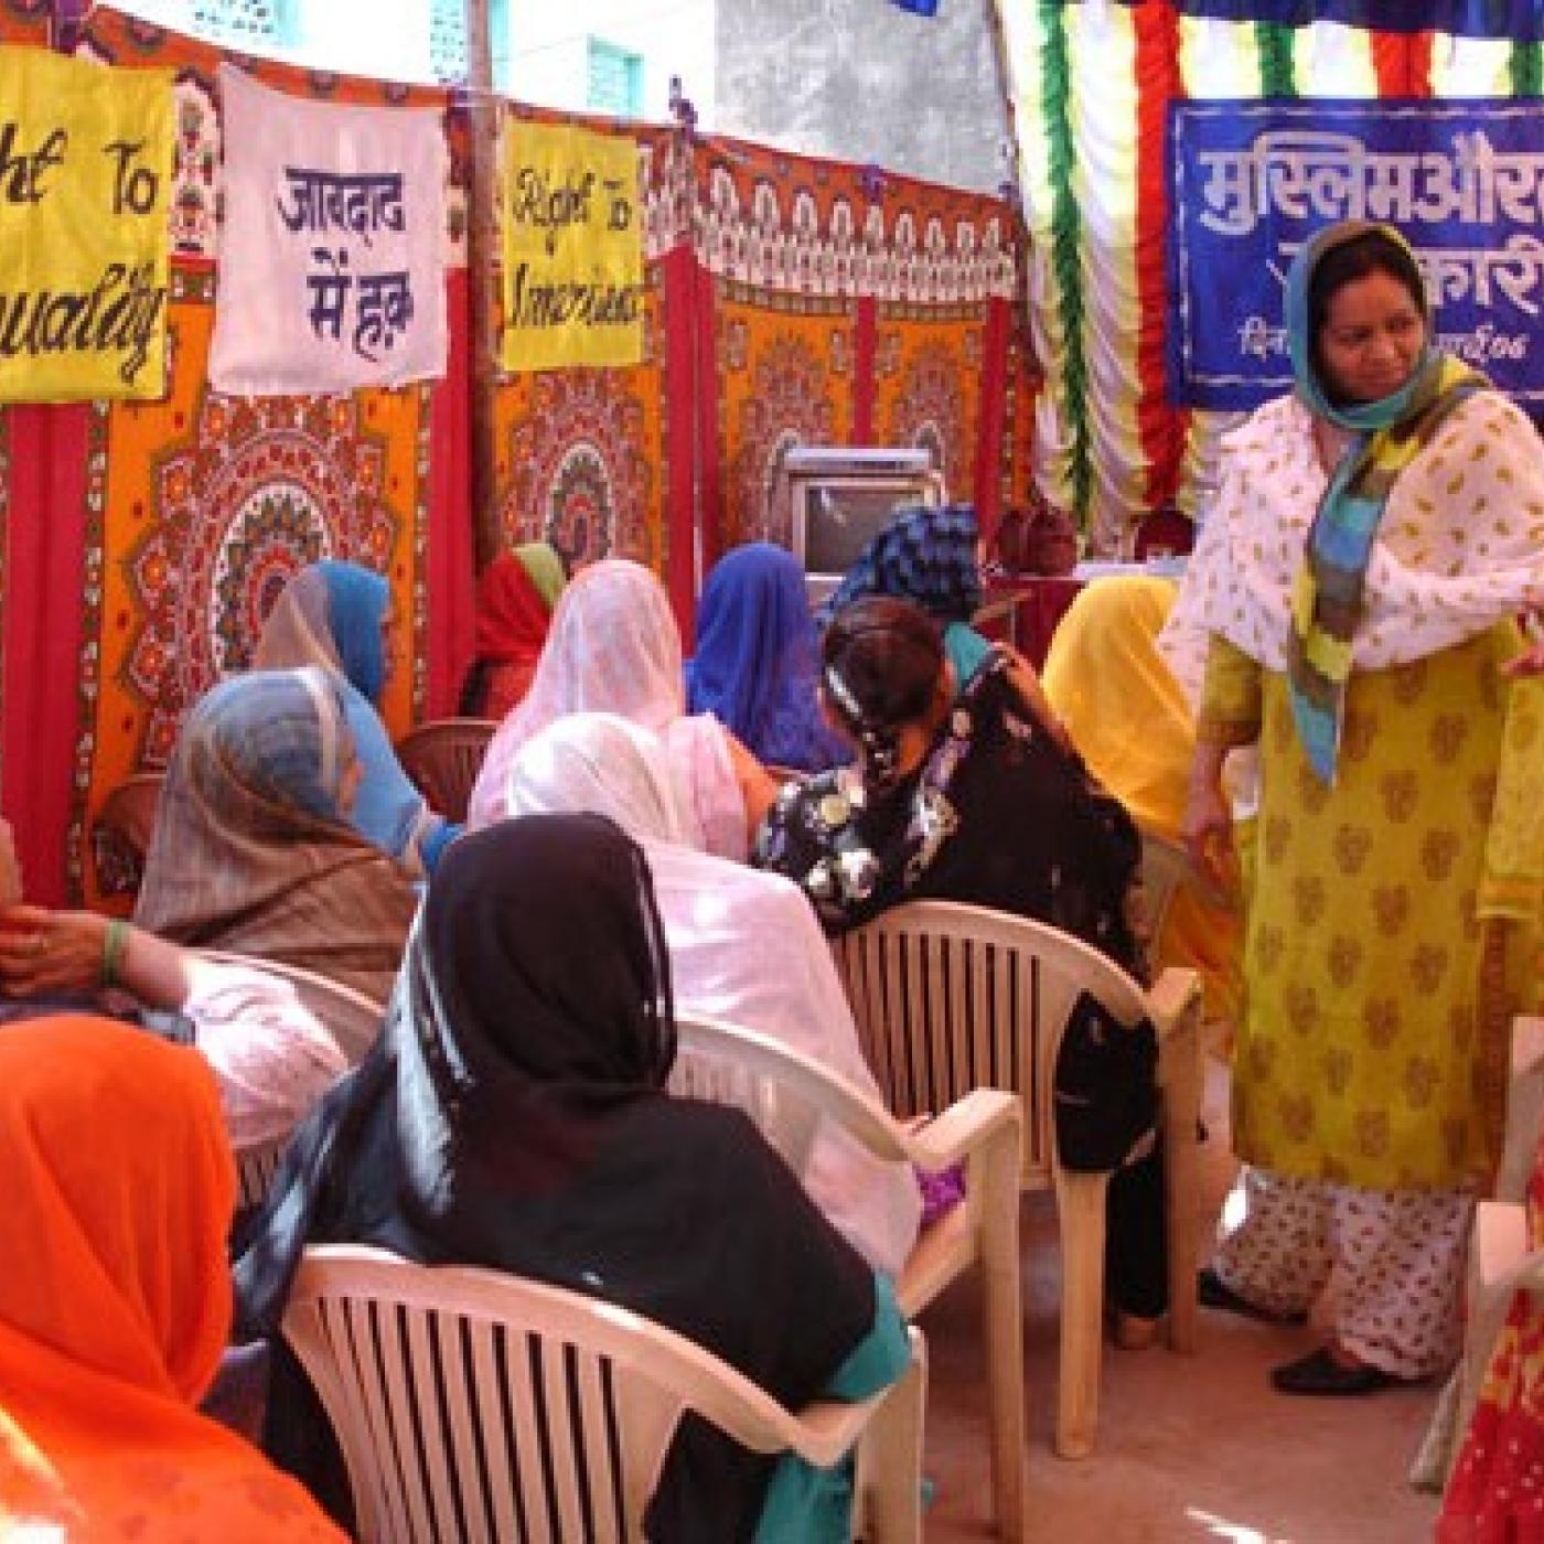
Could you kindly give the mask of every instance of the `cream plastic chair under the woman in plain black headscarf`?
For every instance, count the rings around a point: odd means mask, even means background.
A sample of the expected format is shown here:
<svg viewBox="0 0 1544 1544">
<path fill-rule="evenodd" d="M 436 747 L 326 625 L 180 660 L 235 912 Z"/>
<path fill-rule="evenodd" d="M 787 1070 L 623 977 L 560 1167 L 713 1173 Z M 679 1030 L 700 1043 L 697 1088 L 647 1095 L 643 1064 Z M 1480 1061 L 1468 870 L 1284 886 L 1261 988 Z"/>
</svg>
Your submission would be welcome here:
<svg viewBox="0 0 1544 1544">
<path fill-rule="evenodd" d="M 891 1388 L 794 1414 L 613 1303 L 332 1244 L 306 1251 L 284 1337 L 338 1436 L 366 1544 L 641 1539 L 687 1410 L 743 1447 L 820 1467 L 862 1442 L 866 1536 L 922 1538 L 926 1354 L 916 1331 L 913 1363 Z"/>
</svg>

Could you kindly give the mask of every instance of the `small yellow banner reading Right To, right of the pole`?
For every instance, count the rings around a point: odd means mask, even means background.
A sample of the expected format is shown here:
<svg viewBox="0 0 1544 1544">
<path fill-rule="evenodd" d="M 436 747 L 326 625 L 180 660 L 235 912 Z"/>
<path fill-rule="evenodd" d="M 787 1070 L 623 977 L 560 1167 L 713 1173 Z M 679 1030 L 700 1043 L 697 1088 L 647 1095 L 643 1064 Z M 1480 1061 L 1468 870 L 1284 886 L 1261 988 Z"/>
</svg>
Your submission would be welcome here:
<svg viewBox="0 0 1544 1544">
<path fill-rule="evenodd" d="M 644 232 L 638 145 L 584 128 L 510 124 L 503 141 L 506 371 L 638 364 Z"/>
</svg>

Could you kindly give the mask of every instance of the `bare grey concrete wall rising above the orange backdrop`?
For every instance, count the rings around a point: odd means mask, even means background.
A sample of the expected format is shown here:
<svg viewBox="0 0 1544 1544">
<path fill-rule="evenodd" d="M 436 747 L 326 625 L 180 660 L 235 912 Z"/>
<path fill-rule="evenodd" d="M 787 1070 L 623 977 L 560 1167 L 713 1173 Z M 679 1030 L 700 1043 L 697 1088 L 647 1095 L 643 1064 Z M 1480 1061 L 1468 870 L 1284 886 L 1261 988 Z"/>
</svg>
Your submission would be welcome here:
<svg viewBox="0 0 1544 1544">
<path fill-rule="evenodd" d="M 1008 137 L 991 0 L 718 0 L 709 133 L 996 193 Z M 687 94 L 696 96 L 687 76 Z"/>
</svg>

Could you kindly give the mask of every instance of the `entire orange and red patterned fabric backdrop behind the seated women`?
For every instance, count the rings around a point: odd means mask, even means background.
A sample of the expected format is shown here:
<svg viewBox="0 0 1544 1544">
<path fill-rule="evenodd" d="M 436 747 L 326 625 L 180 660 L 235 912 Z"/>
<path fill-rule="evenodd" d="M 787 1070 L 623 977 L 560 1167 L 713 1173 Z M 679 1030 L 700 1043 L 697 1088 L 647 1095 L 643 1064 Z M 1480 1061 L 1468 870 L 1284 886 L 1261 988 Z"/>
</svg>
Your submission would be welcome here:
<svg viewBox="0 0 1544 1544">
<path fill-rule="evenodd" d="M 0 0 L 0 40 L 48 42 Z M 770 472 L 804 445 L 922 445 L 984 523 L 1027 486 L 1033 372 L 1001 201 L 676 130 L 577 119 L 638 147 L 645 352 L 627 369 L 494 388 L 496 508 L 471 510 L 465 114 L 440 90 L 238 60 L 334 102 L 438 107 L 449 147 L 443 381 L 241 400 L 207 381 L 218 275 L 219 49 L 97 8 L 79 52 L 176 74 L 170 392 L 0 415 L 0 795 L 40 900 L 96 900 L 85 837 L 187 709 L 239 669 L 284 581 L 318 556 L 384 573 L 408 636 L 394 732 L 454 710 L 474 520 L 582 565 L 636 557 L 690 627 L 703 570 L 763 534 Z M 516 120 L 574 120 L 506 103 Z M 1019 443 L 1024 440 L 1025 443 Z M 777 533 L 772 533 L 777 534 Z"/>
</svg>

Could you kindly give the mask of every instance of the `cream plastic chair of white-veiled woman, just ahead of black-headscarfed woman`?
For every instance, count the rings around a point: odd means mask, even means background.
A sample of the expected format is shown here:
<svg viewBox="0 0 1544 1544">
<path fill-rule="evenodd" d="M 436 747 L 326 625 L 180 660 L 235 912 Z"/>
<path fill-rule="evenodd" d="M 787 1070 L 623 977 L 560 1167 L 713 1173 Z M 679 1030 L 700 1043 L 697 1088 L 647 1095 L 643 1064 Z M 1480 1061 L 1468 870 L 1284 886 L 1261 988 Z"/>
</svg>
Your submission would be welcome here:
<svg viewBox="0 0 1544 1544">
<path fill-rule="evenodd" d="M 991 1413 L 993 1502 L 1001 1538 L 1025 1538 L 1024 1323 L 1019 1291 L 1019 1146 L 1024 1118 L 1008 1093 L 977 1089 L 917 1130 L 869 1093 L 755 1030 L 679 1014 L 670 1092 L 733 1104 L 803 1173 L 821 1119 L 877 1158 L 929 1172 L 965 1164 L 965 1200 L 923 1227 L 896 1282 L 908 1319 L 980 1268 L 982 1339 Z"/>
</svg>

